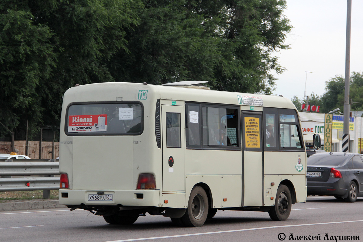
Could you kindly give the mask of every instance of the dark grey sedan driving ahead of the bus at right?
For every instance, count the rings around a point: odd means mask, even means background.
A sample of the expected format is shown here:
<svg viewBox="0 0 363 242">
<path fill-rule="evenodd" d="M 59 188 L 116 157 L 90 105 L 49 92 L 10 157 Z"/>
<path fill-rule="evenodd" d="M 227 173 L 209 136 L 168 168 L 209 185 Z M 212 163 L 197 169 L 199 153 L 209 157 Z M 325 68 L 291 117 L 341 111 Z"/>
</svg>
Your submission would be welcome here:
<svg viewBox="0 0 363 242">
<path fill-rule="evenodd" d="M 363 155 L 324 152 L 307 158 L 307 194 L 328 195 L 347 202 L 363 197 Z"/>
</svg>

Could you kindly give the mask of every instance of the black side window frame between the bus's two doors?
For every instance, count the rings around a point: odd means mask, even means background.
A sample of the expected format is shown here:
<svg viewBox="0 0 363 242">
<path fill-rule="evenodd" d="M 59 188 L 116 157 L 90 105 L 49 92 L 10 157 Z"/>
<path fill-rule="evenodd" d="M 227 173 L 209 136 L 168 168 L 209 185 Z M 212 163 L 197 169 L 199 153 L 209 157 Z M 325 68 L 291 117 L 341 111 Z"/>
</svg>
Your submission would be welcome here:
<svg viewBox="0 0 363 242">
<path fill-rule="evenodd" d="M 188 104 L 192 104 L 192 106 L 199 106 L 198 111 L 198 122 L 199 122 L 199 140 L 200 145 L 186 145 L 186 141 L 189 139 L 189 133 L 187 132 L 188 128 Z M 237 140 L 238 146 L 227 146 L 227 145 L 205 145 L 203 144 L 203 107 L 213 107 L 213 108 L 226 108 L 226 109 L 236 109 L 237 110 Z M 200 149 L 200 150 L 227 150 L 227 151 L 241 151 L 242 142 L 241 142 L 241 106 L 240 105 L 229 105 L 229 104 L 220 104 L 220 103 L 204 103 L 204 102 L 188 102 L 185 101 L 185 149 Z"/>
</svg>

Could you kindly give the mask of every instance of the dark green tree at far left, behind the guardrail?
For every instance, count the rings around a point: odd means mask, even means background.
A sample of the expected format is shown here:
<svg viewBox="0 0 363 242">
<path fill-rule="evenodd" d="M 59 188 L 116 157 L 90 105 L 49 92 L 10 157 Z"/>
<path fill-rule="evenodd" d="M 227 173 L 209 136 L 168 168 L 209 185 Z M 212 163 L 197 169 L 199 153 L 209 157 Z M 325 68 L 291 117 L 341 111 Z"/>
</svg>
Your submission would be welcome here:
<svg viewBox="0 0 363 242">
<path fill-rule="evenodd" d="M 2 0 L 0 136 L 59 130 L 62 95 L 74 84 L 114 81 L 105 62 L 126 49 L 138 0 Z"/>
</svg>

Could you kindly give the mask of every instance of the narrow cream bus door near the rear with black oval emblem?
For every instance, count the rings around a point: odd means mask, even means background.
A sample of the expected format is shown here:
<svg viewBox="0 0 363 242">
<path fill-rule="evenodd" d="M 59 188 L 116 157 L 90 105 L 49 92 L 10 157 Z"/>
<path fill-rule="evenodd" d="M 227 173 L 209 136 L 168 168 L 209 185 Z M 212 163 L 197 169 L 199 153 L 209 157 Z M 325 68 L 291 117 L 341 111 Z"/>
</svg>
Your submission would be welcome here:
<svg viewBox="0 0 363 242">
<path fill-rule="evenodd" d="M 183 106 L 162 105 L 163 191 L 185 190 Z"/>
</svg>

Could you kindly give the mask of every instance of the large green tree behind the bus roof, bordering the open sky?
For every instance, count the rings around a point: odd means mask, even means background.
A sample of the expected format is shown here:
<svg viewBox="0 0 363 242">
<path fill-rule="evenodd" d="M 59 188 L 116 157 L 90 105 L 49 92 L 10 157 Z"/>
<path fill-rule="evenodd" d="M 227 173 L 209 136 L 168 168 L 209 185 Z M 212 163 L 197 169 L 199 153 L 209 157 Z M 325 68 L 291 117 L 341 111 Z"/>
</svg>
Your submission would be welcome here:
<svg viewBox="0 0 363 242">
<path fill-rule="evenodd" d="M 116 81 L 162 84 L 209 81 L 215 90 L 268 93 L 271 53 L 287 49 L 291 29 L 280 0 L 144 1 L 140 25 L 127 34 L 127 50 L 110 60 Z"/>
</svg>

